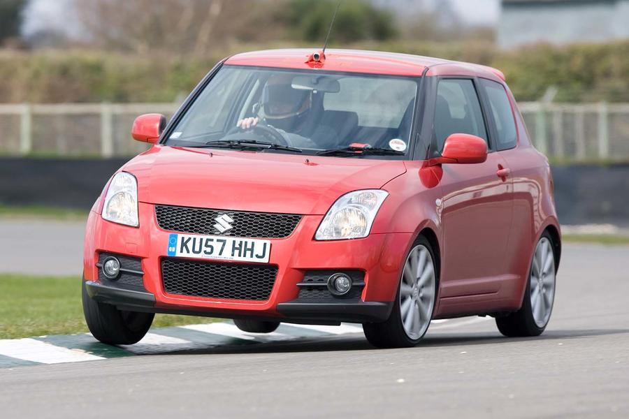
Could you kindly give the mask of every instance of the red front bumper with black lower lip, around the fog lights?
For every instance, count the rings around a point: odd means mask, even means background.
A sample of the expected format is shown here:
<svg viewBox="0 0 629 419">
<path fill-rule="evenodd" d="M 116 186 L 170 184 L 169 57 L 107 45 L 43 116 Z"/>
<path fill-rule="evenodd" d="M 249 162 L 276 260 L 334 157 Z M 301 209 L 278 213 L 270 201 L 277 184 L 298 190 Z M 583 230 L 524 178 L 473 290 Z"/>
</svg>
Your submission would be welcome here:
<svg viewBox="0 0 629 419">
<path fill-rule="evenodd" d="M 402 259 L 412 240 L 411 233 L 395 233 L 317 242 L 312 237 L 322 216 L 303 216 L 289 237 L 271 240 L 269 264 L 277 266 L 277 277 L 268 300 L 224 300 L 166 293 L 161 281 L 161 260 L 167 257 L 168 237 L 172 232 L 157 226 L 154 205 L 140 203 L 139 214 L 140 228 L 131 228 L 104 221 L 100 214 L 91 212 L 83 269 L 92 298 L 137 311 L 299 323 L 384 321 L 391 312 Z M 96 265 L 103 252 L 139 258 L 143 290 L 121 289 L 99 281 Z M 364 287 L 352 300 L 299 299 L 298 284 L 314 270 L 359 270 L 364 272 Z"/>
</svg>

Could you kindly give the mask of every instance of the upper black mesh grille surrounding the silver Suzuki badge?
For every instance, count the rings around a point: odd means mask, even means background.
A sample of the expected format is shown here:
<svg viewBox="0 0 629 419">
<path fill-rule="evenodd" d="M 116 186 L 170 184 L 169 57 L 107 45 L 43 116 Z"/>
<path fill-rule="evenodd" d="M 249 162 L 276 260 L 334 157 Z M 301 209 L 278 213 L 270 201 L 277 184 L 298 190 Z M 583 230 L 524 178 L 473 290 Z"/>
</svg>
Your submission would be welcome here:
<svg viewBox="0 0 629 419">
<path fill-rule="evenodd" d="M 180 233 L 219 235 L 216 218 L 227 214 L 233 219 L 231 229 L 222 235 L 252 238 L 282 238 L 293 233 L 301 215 L 210 210 L 207 208 L 155 205 L 157 225 L 164 230 Z"/>
</svg>

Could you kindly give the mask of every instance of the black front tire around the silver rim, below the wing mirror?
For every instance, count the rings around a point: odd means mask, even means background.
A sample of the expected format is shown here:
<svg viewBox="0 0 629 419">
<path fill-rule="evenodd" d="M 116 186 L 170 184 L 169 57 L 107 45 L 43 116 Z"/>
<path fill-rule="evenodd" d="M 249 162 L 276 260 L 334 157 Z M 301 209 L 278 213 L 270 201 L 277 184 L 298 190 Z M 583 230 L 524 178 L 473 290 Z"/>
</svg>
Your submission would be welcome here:
<svg viewBox="0 0 629 419">
<path fill-rule="evenodd" d="M 414 249 L 418 244 L 424 245 L 428 249 L 431 258 L 433 260 L 433 266 L 435 268 L 435 302 L 438 297 L 439 289 L 439 270 L 438 262 L 435 260 L 435 252 L 433 248 L 424 236 L 417 237 L 417 240 L 411 247 Z M 407 255 L 408 257 L 408 255 Z M 406 261 L 407 258 L 405 258 Z M 401 275 L 399 281 L 402 281 Z M 435 311 L 435 305 L 433 302 L 433 310 L 431 312 L 431 318 Z M 370 344 L 377 348 L 410 348 L 419 344 L 419 341 L 426 335 L 428 328 L 424 330 L 424 334 L 417 339 L 410 338 L 404 330 L 402 323 L 402 314 L 400 311 L 400 285 L 398 282 L 398 292 L 396 293 L 396 300 L 393 303 L 393 309 L 389 318 L 383 323 L 363 323 L 363 332 Z"/>
</svg>

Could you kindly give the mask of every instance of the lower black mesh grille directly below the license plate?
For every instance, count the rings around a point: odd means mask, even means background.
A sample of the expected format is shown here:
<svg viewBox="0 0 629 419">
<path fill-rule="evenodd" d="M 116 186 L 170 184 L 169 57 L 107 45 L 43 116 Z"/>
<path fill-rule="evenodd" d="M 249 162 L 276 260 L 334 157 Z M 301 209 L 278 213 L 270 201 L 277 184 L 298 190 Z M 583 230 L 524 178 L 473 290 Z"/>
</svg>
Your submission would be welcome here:
<svg viewBox="0 0 629 419">
<path fill-rule="evenodd" d="M 161 279 L 169 294 L 229 300 L 268 300 L 277 266 L 161 260 Z"/>
</svg>

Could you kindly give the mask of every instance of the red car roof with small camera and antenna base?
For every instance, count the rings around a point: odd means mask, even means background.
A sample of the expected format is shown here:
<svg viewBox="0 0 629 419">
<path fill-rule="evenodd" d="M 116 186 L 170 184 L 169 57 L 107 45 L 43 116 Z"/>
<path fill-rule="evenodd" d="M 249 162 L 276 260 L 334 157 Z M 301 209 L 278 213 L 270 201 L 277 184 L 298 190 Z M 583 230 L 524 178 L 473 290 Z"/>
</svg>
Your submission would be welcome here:
<svg viewBox="0 0 629 419">
<path fill-rule="evenodd" d="M 225 64 L 281 68 L 324 68 L 330 71 L 351 73 L 410 76 L 420 76 L 424 74 L 426 68 L 430 68 L 428 75 L 480 75 L 504 80 L 504 75 L 495 68 L 446 59 L 393 52 L 326 50 L 325 59 L 317 62 L 312 60 L 314 52 L 317 50 L 244 52 L 229 57 Z"/>
</svg>

